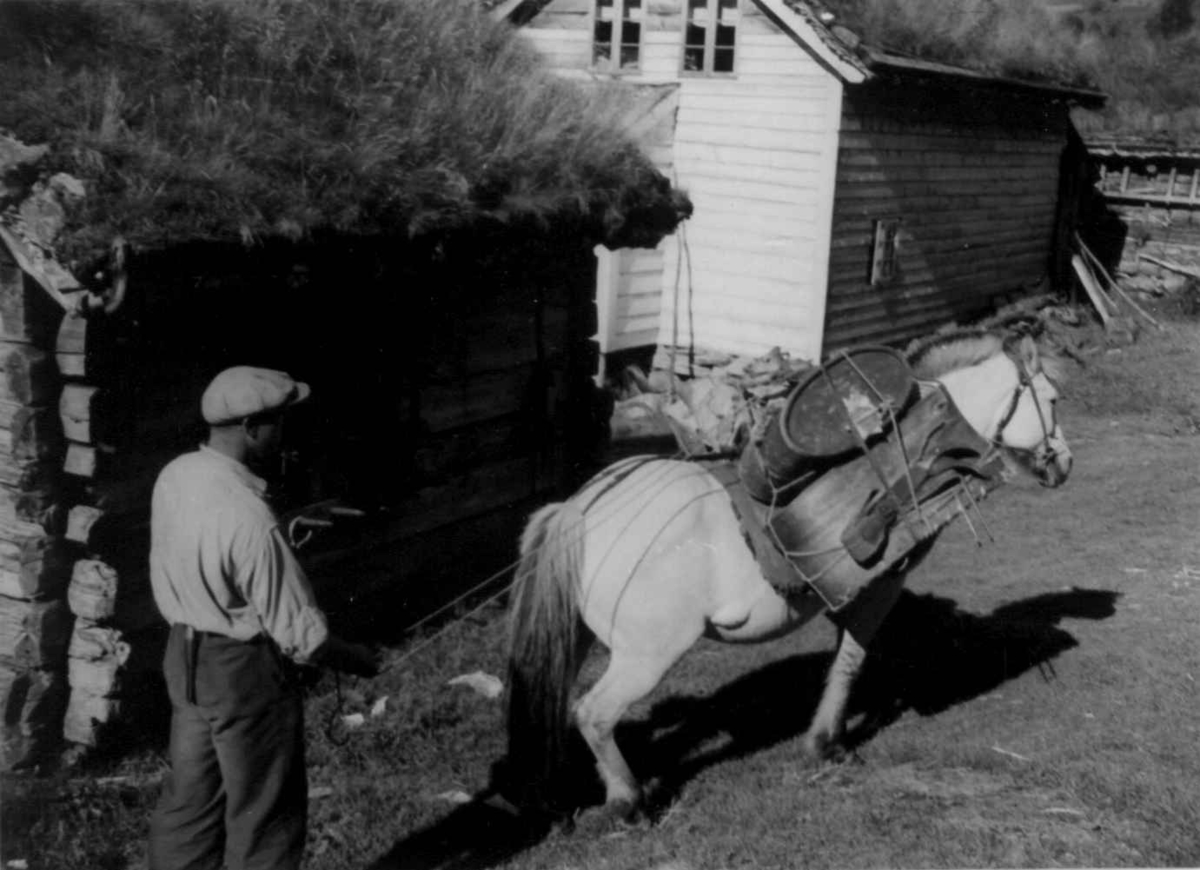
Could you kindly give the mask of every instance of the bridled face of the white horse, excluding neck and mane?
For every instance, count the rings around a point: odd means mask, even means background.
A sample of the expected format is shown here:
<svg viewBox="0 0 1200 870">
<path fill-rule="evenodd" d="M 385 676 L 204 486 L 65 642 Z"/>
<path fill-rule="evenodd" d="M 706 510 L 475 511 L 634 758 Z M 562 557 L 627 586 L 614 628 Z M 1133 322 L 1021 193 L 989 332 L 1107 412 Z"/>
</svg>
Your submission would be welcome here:
<svg viewBox="0 0 1200 870">
<path fill-rule="evenodd" d="M 1030 336 L 1006 347 L 1004 359 L 1010 383 L 1001 392 L 1007 400 L 984 436 L 1039 484 L 1060 486 L 1070 474 L 1072 456 L 1058 425 L 1057 362 L 1044 358 Z"/>
</svg>

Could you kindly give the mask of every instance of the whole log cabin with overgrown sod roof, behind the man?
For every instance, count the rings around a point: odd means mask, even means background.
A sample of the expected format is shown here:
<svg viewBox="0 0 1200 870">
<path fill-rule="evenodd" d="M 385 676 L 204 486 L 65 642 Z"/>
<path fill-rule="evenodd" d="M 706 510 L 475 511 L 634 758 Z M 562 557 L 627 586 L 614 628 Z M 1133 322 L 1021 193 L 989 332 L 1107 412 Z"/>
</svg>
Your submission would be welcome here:
<svg viewBox="0 0 1200 870">
<path fill-rule="evenodd" d="M 503 588 L 606 431 L 593 250 L 690 212 L 475 0 L 190 5 L 0 5 L 8 764 L 161 713 L 149 497 L 227 366 L 313 388 L 272 498 L 364 511 L 304 552 L 335 625 Z"/>
</svg>

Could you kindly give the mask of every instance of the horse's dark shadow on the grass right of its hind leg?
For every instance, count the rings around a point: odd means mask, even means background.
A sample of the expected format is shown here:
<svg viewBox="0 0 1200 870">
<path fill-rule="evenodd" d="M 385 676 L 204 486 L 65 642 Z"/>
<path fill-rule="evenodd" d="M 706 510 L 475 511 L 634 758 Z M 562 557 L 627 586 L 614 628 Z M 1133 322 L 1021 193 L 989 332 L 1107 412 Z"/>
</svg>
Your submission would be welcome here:
<svg viewBox="0 0 1200 870">
<path fill-rule="evenodd" d="M 856 750 L 904 713 L 934 715 L 1037 668 L 1078 646 L 1063 619 L 1105 619 L 1120 593 L 1072 588 L 1002 605 L 980 616 L 950 599 L 904 590 L 868 650 L 851 692 L 846 749 Z M 620 728 L 631 767 L 667 806 L 703 769 L 754 755 L 809 726 L 833 650 L 772 662 L 706 697 L 672 697 Z M 602 797 L 602 796 L 601 796 Z"/>
</svg>

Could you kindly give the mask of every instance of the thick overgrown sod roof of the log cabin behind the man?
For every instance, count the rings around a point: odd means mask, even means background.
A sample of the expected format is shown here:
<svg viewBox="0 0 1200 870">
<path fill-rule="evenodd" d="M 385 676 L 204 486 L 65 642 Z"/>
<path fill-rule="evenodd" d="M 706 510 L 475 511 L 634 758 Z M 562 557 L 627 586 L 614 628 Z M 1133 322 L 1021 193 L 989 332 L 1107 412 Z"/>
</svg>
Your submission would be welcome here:
<svg viewBox="0 0 1200 870">
<path fill-rule="evenodd" d="M 491 226 L 656 244 L 690 210 L 622 132 L 629 97 L 556 78 L 479 0 L 5 0 L 0 133 L 22 184 L 83 181 L 56 241 L 157 250 Z"/>
</svg>

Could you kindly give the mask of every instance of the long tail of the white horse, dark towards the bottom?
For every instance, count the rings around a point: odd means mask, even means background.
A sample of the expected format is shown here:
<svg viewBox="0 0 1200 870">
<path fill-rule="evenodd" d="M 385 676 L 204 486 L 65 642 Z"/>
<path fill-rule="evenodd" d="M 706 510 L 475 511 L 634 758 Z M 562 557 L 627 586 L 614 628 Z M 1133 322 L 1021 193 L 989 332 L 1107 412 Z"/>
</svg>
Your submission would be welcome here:
<svg viewBox="0 0 1200 870">
<path fill-rule="evenodd" d="M 521 536 L 509 605 L 509 751 L 506 779 L 516 802 L 545 811 L 558 803 L 566 762 L 569 696 L 586 648 L 577 590 L 583 565 L 583 514 L 551 504 Z"/>
</svg>

